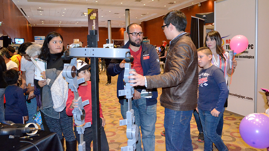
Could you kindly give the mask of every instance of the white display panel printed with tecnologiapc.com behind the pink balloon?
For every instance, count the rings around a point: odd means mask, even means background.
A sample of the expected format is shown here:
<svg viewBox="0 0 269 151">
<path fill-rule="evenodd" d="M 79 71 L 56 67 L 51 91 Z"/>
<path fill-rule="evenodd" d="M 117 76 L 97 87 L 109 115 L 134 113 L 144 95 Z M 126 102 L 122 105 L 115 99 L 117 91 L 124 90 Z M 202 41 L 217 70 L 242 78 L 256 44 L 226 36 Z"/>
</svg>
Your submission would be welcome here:
<svg viewBox="0 0 269 151">
<path fill-rule="evenodd" d="M 237 66 L 228 75 L 228 111 L 244 115 L 254 113 L 254 55 L 255 55 L 255 0 L 215 1 L 215 30 L 222 37 L 223 50 L 230 50 L 230 40 L 236 35 L 247 37 L 245 51 L 235 55 Z M 231 84 L 230 84 L 231 82 Z"/>
</svg>

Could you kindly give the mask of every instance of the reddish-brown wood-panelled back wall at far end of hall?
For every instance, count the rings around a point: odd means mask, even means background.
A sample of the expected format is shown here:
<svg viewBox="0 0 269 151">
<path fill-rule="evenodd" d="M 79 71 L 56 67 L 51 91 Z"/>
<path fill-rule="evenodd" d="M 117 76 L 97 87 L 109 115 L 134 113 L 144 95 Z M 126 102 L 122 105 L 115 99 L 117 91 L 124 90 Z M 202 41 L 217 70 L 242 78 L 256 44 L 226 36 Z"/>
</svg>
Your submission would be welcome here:
<svg viewBox="0 0 269 151">
<path fill-rule="evenodd" d="M 88 27 L 33 27 L 34 36 L 47 36 L 48 33 L 56 31 L 63 37 L 63 43 L 66 47 L 67 44 L 72 44 L 74 39 L 79 39 L 83 42 L 82 47 L 87 46 Z M 123 32 L 125 28 L 111 28 L 112 39 L 124 39 Z M 99 27 L 99 42 L 98 48 L 103 48 L 108 38 L 108 30 L 106 27 Z"/>
</svg>

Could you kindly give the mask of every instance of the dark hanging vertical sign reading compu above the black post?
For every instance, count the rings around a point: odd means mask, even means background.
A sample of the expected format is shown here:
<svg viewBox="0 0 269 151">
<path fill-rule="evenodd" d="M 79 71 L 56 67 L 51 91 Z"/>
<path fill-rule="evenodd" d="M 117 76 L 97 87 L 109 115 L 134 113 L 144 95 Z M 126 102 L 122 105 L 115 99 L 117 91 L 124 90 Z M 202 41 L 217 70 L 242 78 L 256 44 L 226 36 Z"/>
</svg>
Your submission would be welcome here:
<svg viewBox="0 0 269 151">
<path fill-rule="evenodd" d="M 88 35 L 90 30 L 97 30 L 97 41 L 99 41 L 98 9 L 88 8 Z"/>
</svg>

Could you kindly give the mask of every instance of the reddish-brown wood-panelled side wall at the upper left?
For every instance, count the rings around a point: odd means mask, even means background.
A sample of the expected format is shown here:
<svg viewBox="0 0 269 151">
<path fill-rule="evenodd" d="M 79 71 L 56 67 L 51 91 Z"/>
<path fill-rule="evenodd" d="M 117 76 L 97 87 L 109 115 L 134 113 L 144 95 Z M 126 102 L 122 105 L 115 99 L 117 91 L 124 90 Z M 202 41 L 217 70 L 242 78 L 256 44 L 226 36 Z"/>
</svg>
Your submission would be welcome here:
<svg viewBox="0 0 269 151">
<path fill-rule="evenodd" d="M 33 42 L 32 26 L 20 12 L 12 0 L 0 0 L 0 33 L 14 38 L 25 38 L 25 41 Z"/>
</svg>

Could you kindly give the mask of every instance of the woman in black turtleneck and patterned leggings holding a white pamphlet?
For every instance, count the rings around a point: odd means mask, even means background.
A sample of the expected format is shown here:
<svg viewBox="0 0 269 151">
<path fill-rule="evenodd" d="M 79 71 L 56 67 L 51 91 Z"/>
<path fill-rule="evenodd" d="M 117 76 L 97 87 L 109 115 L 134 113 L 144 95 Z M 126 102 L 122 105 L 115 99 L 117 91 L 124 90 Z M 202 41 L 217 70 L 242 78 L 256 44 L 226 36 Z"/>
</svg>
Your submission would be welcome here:
<svg viewBox="0 0 269 151">
<path fill-rule="evenodd" d="M 57 32 L 50 32 L 45 38 L 39 58 L 47 61 L 47 69 L 63 70 L 64 60 L 62 60 L 61 56 L 64 51 L 62 35 Z M 51 81 L 53 80 L 51 79 Z M 77 143 L 73 131 L 72 117 L 66 115 L 65 108 L 61 112 L 54 110 L 50 87 L 47 85 L 46 80 L 35 80 L 35 84 L 41 89 L 42 106 L 40 110 L 42 112 L 42 121 L 44 120 L 43 124 L 45 124 L 44 129 L 48 130 L 49 128 L 51 132 L 56 132 L 62 143 L 64 137 L 67 151 L 76 150 Z"/>
</svg>

